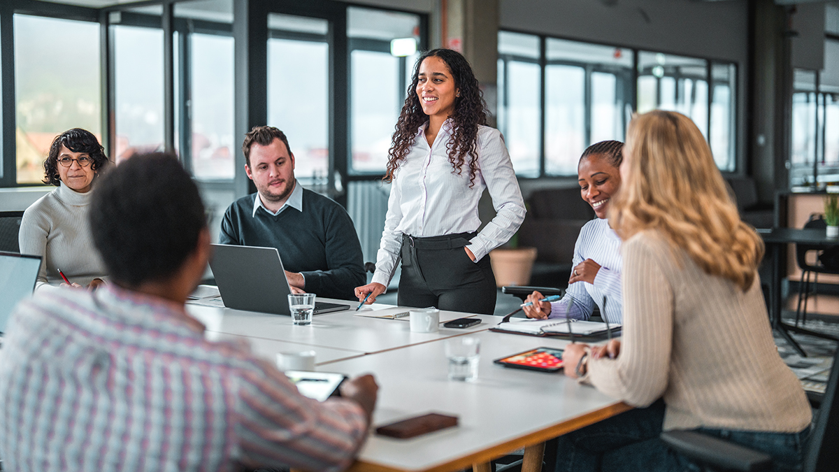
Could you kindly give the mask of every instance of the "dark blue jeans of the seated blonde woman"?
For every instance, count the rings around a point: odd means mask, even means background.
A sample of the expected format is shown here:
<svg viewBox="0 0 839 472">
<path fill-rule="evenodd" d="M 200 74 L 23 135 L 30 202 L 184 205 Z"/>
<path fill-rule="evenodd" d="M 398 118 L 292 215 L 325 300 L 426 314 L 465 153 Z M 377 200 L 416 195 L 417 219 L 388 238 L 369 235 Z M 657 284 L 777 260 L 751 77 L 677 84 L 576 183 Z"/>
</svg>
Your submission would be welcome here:
<svg viewBox="0 0 839 472">
<path fill-rule="evenodd" d="M 690 471 L 702 470 L 660 439 L 664 401 L 637 408 L 556 438 L 555 472 L 584 471 Z M 697 431 L 724 438 L 770 454 L 775 472 L 801 469 L 801 452 L 810 428 L 800 433 L 763 433 L 699 428 Z"/>
</svg>

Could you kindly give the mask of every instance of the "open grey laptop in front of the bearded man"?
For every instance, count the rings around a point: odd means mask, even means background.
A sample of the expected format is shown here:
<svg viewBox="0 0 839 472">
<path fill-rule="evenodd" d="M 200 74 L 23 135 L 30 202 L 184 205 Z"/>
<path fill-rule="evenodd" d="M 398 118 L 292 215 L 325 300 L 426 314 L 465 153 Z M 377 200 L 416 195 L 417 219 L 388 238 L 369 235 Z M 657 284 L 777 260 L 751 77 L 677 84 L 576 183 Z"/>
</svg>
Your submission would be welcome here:
<svg viewBox="0 0 839 472">
<path fill-rule="evenodd" d="M 289 281 L 276 248 L 213 244 L 210 261 L 224 306 L 291 316 Z M 315 315 L 349 310 L 349 305 L 315 302 Z"/>
</svg>

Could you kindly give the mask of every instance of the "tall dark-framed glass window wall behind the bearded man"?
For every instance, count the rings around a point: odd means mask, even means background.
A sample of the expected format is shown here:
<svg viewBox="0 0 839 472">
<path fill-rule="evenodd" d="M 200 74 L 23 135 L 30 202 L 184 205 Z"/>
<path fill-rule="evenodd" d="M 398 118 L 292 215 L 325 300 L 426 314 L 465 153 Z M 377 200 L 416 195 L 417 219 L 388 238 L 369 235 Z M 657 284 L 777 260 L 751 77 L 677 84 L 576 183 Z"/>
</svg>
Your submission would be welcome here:
<svg viewBox="0 0 839 472">
<path fill-rule="evenodd" d="M 427 15 L 317 0 L 234 18 L 240 5 L 4 0 L 0 62 L 13 67 L 0 78 L 15 96 L 0 116 L 0 186 L 38 184 L 55 135 L 81 127 L 117 162 L 174 149 L 202 191 L 227 192 L 224 206 L 253 188 L 239 146 L 257 124 L 284 130 L 311 190 L 346 204 L 349 182 L 377 181 Z"/>
</svg>

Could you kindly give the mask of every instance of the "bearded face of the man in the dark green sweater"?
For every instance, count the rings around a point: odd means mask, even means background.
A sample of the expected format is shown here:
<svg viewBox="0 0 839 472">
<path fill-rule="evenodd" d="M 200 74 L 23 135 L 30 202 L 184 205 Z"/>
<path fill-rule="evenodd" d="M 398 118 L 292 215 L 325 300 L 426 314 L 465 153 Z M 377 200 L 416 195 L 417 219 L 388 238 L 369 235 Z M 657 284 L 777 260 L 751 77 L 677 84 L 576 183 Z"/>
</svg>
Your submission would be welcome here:
<svg viewBox="0 0 839 472">
<path fill-rule="evenodd" d="M 253 143 L 250 165 L 245 165 L 245 172 L 266 207 L 271 203 L 284 203 L 294 190 L 294 155 L 279 138 L 274 138 L 267 146 Z"/>
</svg>

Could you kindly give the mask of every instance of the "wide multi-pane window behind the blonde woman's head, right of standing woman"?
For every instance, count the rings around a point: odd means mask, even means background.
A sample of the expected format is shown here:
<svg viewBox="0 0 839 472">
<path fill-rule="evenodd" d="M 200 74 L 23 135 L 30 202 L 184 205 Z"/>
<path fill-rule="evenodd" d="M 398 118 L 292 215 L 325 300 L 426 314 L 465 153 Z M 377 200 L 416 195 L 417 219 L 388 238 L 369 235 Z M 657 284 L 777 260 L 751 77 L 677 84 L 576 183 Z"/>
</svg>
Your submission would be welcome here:
<svg viewBox="0 0 839 472">
<path fill-rule="evenodd" d="M 498 128 L 519 176 L 576 175 L 587 146 L 623 141 L 634 109 L 657 108 L 693 119 L 720 170 L 736 168 L 733 64 L 508 31 L 498 56 Z"/>
</svg>

